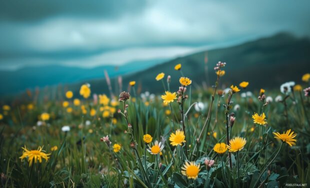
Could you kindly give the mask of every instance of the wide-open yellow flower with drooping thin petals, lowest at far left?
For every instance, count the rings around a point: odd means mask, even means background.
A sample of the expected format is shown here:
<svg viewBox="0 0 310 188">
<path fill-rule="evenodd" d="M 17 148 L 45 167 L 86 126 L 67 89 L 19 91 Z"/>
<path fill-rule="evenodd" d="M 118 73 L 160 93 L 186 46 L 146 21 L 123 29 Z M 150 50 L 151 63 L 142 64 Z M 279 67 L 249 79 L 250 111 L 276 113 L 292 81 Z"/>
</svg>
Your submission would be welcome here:
<svg viewBox="0 0 310 188">
<path fill-rule="evenodd" d="M 46 154 L 44 152 L 42 152 L 42 148 L 43 147 L 38 147 L 37 150 L 28 150 L 26 148 L 26 146 L 24 147 L 21 147 L 23 149 L 22 151 L 22 155 L 19 157 L 21 159 L 21 161 L 24 159 L 24 158 L 28 158 L 28 162 L 29 162 L 29 166 L 31 166 L 32 162 L 33 162 L 33 159 L 34 159 L 34 163 L 36 163 L 36 161 L 38 160 L 40 163 L 42 162 L 42 158 L 45 159 L 45 161 L 48 160 L 48 155 L 49 154 Z"/>
</svg>

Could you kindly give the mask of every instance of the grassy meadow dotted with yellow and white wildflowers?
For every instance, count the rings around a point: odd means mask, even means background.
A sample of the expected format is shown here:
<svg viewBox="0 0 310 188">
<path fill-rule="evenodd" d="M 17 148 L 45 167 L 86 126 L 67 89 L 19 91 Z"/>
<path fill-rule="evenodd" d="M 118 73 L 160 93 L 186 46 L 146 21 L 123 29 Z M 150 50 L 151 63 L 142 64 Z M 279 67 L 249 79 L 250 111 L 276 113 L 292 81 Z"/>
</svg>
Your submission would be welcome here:
<svg viewBox="0 0 310 188">
<path fill-rule="evenodd" d="M 225 66 L 208 89 L 177 64 L 180 77 L 154 77 L 161 95 L 85 83 L 3 104 L 1 187 L 310 186 L 310 73 L 279 89 L 249 91 L 246 78 L 223 89 Z"/>
</svg>

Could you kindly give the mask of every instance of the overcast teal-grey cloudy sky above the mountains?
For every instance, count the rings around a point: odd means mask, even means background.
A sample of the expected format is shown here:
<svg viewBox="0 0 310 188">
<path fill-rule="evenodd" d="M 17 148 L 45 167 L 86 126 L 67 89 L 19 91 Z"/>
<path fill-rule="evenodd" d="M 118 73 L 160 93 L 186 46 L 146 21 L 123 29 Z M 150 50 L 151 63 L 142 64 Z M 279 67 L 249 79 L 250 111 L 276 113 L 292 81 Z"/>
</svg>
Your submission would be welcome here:
<svg viewBox="0 0 310 188">
<path fill-rule="evenodd" d="M 0 69 L 173 58 L 279 31 L 310 35 L 309 0 L 2 0 Z"/>
</svg>

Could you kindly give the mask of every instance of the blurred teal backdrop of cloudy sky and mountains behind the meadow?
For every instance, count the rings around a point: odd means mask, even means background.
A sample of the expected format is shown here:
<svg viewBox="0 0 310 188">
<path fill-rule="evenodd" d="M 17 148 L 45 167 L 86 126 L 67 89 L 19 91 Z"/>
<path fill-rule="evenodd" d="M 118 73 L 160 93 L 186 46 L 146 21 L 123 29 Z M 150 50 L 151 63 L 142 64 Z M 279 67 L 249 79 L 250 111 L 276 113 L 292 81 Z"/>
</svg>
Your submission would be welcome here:
<svg viewBox="0 0 310 188">
<path fill-rule="evenodd" d="M 107 93 L 107 77 L 115 93 L 132 80 L 138 92 L 160 93 L 155 76 L 178 79 L 178 63 L 196 88 L 210 86 L 217 61 L 227 62 L 223 83 L 300 82 L 310 70 L 309 7 L 309 0 L 1 1 L 0 98 L 27 89 L 78 93 L 85 82 Z"/>
</svg>

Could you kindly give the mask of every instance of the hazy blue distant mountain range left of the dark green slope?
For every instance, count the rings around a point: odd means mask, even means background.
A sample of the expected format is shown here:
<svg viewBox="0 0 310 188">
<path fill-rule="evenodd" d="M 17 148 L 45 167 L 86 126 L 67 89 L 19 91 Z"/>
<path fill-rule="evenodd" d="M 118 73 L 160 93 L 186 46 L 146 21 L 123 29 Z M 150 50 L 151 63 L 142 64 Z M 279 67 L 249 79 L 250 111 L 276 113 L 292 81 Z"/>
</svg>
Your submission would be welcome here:
<svg viewBox="0 0 310 188">
<path fill-rule="evenodd" d="M 94 68 L 79 68 L 61 65 L 28 66 L 15 71 L 0 71 L 0 95 L 16 93 L 26 88 L 46 85 L 68 84 L 82 80 L 103 78 L 106 69 L 110 77 L 149 68 L 165 59 L 128 62 L 121 66 L 104 65 Z"/>
</svg>

